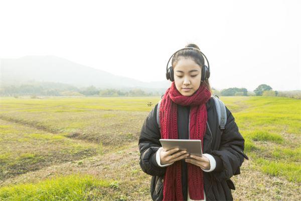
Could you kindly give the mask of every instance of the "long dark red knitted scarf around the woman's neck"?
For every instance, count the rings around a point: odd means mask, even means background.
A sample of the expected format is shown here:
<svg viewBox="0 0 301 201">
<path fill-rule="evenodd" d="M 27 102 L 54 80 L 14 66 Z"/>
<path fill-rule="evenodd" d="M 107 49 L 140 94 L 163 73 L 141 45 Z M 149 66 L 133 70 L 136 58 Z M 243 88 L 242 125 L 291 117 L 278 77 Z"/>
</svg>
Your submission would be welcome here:
<svg viewBox="0 0 301 201">
<path fill-rule="evenodd" d="M 211 92 L 200 85 L 191 96 L 182 95 L 172 82 L 165 92 L 160 105 L 161 138 L 179 139 L 177 122 L 177 105 L 191 106 L 190 109 L 190 139 L 202 140 L 206 131 L 207 109 L 206 103 L 211 97 Z M 188 187 L 191 199 L 204 199 L 203 170 L 196 165 L 187 163 Z M 167 166 L 164 178 L 163 200 L 183 200 L 181 180 L 181 160 Z"/>
</svg>

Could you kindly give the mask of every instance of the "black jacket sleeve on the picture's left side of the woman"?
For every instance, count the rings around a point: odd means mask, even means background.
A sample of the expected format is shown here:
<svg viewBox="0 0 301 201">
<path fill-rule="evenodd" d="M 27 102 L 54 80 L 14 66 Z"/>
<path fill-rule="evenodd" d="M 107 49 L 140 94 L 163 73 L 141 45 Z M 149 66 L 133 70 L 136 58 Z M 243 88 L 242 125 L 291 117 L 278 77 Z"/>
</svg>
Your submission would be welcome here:
<svg viewBox="0 0 301 201">
<path fill-rule="evenodd" d="M 140 167 L 143 172 L 152 176 L 162 176 L 166 167 L 160 167 L 156 161 L 156 153 L 161 147 L 161 133 L 157 124 L 157 107 L 145 118 L 139 136 Z"/>
</svg>

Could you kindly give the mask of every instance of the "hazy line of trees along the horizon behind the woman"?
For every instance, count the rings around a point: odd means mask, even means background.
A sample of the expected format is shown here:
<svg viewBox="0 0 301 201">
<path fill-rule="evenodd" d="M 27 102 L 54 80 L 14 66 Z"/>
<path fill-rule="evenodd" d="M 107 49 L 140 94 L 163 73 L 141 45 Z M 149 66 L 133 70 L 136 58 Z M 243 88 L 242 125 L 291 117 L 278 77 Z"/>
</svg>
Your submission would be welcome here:
<svg viewBox="0 0 301 201">
<path fill-rule="evenodd" d="M 0 87 L 0 96 L 161 96 L 165 90 L 144 91 L 139 88 L 133 89 L 101 89 L 95 86 L 78 88 L 70 84 L 55 82 L 34 82 L 32 84 L 7 85 Z M 253 91 L 246 88 L 226 88 L 217 90 L 212 88 L 213 94 L 219 96 L 286 96 L 301 99 L 301 91 L 276 91 L 266 84 L 260 84 Z"/>
</svg>

